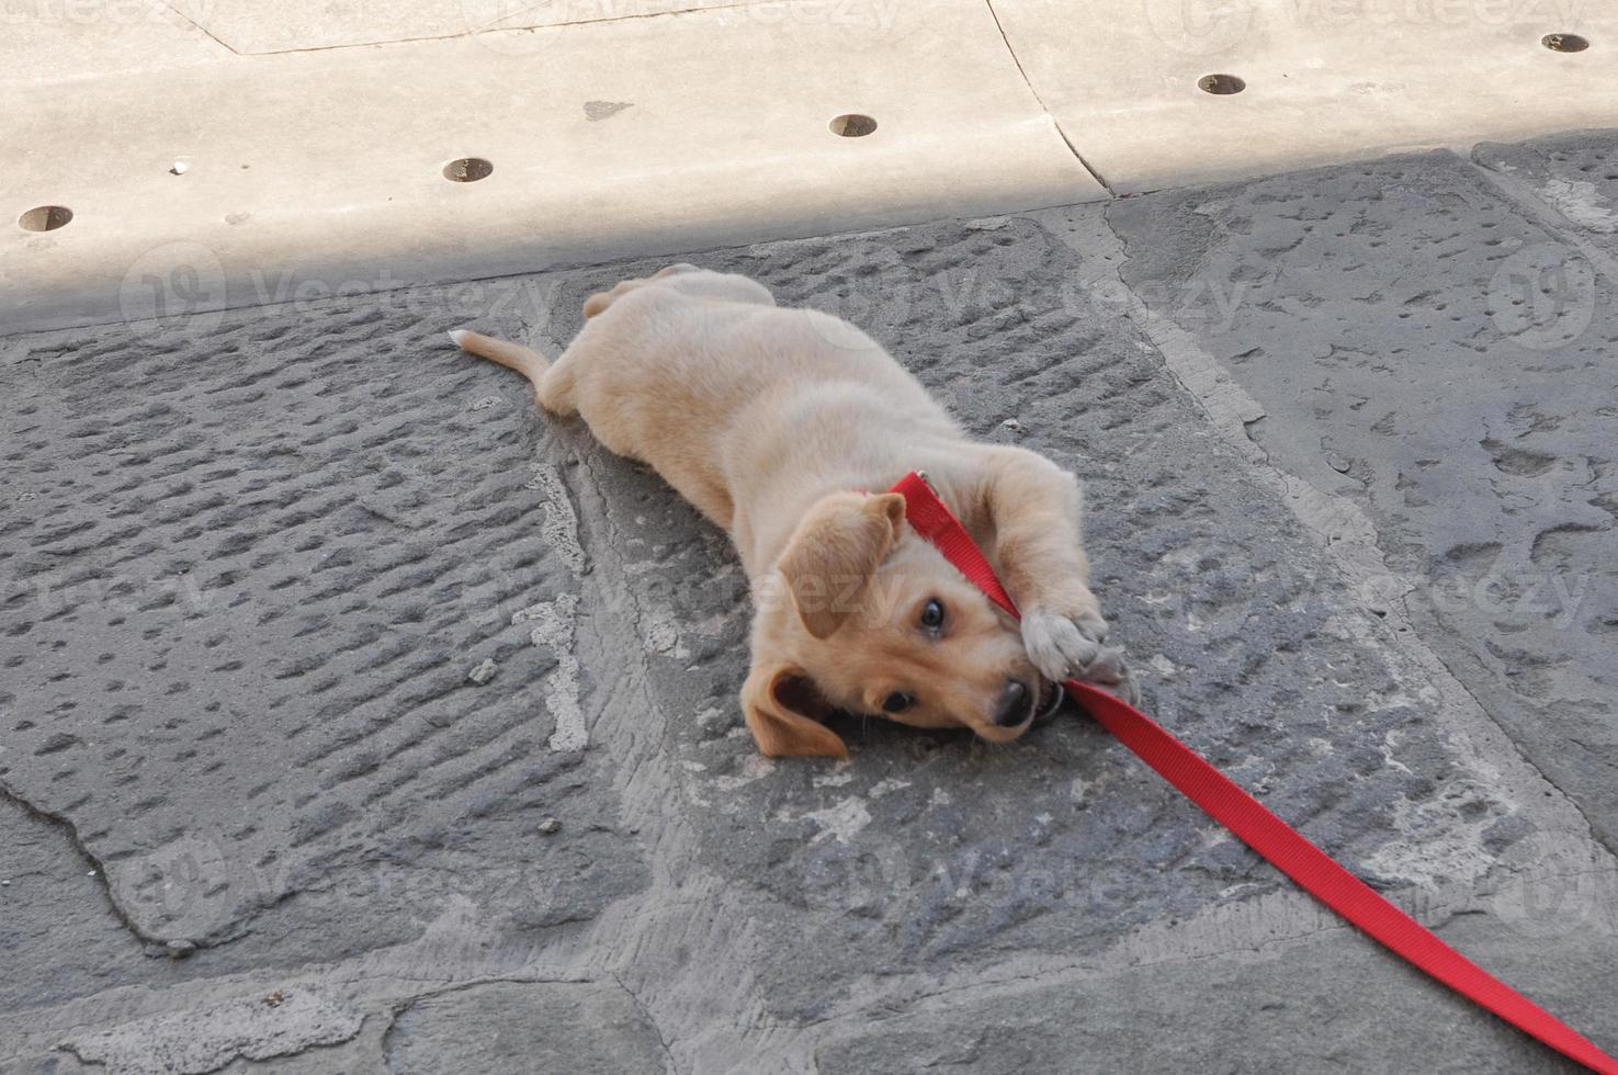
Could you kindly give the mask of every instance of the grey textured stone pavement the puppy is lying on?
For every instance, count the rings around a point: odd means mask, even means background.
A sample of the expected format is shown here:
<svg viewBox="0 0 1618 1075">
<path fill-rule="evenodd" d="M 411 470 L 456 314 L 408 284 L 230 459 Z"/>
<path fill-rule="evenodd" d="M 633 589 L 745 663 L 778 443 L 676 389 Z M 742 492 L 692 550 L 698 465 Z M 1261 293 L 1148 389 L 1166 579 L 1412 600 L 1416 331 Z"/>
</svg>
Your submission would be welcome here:
<svg viewBox="0 0 1618 1075">
<path fill-rule="evenodd" d="M 1149 711 L 1615 1049 L 1615 206 L 1587 134 L 691 259 L 1079 473 Z M 0 1072 L 1571 1070 L 1079 714 L 759 759 L 723 536 L 443 340 L 654 264 L 0 338 Z"/>
</svg>

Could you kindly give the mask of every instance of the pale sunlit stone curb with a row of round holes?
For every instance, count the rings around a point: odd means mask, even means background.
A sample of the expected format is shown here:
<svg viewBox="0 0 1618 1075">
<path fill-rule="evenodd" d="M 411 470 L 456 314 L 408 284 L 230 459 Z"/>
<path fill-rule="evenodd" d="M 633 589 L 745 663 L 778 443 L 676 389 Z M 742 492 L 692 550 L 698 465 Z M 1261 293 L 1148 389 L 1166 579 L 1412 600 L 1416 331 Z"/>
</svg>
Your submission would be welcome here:
<svg viewBox="0 0 1618 1075">
<path fill-rule="evenodd" d="M 1128 194 L 1618 107 L 1618 15 L 1485 0 L 438 0 L 382 21 L 136 0 L 13 29 L 8 330 L 1076 204 L 1108 194 L 1097 176 Z"/>
</svg>

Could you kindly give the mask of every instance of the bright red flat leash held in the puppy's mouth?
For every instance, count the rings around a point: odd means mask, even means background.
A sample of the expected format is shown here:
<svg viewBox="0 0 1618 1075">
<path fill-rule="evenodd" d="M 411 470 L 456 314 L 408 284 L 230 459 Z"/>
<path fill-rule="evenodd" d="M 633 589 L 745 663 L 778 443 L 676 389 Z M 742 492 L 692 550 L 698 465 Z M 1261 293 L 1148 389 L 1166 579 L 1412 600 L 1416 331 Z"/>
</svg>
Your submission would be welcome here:
<svg viewBox="0 0 1618 1075">
<path fill-rule="evenodd" d="M 906 518 L 917 534 L 938 547 L 961 575 L 1011 615 L 1018 615 L 1010 594 L 995 578 L 982 550 L 961 521 L 950 513 L 921 473 L 903 478 L 890 492 L 904 497 Z M 1021 617 L 1018 617 L 1021 618 Z M 1576 1030 L 1539 1007 L 1521 992 L 1440 941 L 1419 921 L 1377 895 L 1364 881 L 1348 873 L 1330 855 L 1272 814 L 1259 800 L 1196 751 L 1165 732 L 1144 712 L 1107 691 L 1068 680 L 1068 693 L 1116 735 L 1125 746 L 1157 769 L 1215 821 L 1235 832 L 1275 868 L 1333 911 L 1427 971 L 1456 992 L 1471 997 L 1518 1030 L 1539 1038 L 1592 1072 L 1618 1075 L 1618 1060 L 1597 1049 Z"/>
</svg>

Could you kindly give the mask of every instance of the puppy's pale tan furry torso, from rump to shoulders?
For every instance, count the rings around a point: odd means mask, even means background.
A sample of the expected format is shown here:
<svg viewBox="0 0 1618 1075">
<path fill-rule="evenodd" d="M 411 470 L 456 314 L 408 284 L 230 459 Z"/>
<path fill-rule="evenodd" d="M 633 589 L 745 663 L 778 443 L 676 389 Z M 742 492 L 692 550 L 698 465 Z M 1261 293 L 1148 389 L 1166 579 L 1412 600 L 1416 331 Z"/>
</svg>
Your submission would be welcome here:
<svg viewBox="0 0 1618 1075">
<path fill-rule="evenodd" d="M 887 351 L 837 346 L 824 314 L 650 291 L 620 300 L 570 356 L 578 410 L 725 528 L 756 481 L 864 476 L 919 434 L 959 436 Z"/>
</svg>

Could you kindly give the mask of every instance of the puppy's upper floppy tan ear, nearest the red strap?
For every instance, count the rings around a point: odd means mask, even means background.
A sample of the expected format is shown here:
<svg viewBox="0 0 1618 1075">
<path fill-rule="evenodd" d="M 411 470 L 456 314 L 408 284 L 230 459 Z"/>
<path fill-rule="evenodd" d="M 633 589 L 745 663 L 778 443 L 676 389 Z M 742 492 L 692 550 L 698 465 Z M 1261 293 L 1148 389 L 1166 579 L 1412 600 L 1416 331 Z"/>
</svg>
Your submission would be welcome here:
<svg viewBox="0 0 1618 1075">
<path fill-rule="evenodd" d="M 903 521 L 904 497 L 896 492 L 837 492 L 804 515 L 775 570 L 811 635 L 830 638 L 841 627 Z"/>
</svg>

